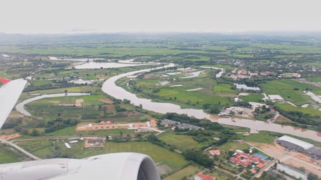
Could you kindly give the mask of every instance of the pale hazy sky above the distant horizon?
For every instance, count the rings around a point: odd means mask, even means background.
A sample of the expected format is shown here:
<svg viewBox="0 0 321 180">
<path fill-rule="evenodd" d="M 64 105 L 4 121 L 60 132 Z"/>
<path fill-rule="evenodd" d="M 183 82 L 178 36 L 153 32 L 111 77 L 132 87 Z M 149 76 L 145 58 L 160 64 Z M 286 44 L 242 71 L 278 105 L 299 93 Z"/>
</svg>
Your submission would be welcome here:
<svg viewBox="0 0 321 180">
<path fill-rule="evenodd" d="M 319 0 L 0 0 L 0 32 L 321 30 Z"/>
</svg>

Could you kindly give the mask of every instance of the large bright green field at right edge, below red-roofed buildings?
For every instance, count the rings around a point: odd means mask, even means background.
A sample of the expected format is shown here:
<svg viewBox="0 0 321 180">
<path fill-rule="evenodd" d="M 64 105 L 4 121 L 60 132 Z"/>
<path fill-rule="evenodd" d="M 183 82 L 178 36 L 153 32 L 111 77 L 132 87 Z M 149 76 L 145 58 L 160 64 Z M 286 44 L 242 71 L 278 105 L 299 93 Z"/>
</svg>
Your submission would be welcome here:
<svg viewBox="0 0 321 180">
<path fill-rule="evenodd" d="M 320 91 L 321 87 L 300 83 L 294 80 L 272 80 L 262 84 L 263 90 L 268 95 L 281 95 L 285 100 L 288 100 L 296 105 L 303 103 L 315 102 L 311 97 L 305 95 L 302 89 L 311 88 L 313 91 Z M 298 88 L 299 90 L 293 90 Z"/>
</svg>

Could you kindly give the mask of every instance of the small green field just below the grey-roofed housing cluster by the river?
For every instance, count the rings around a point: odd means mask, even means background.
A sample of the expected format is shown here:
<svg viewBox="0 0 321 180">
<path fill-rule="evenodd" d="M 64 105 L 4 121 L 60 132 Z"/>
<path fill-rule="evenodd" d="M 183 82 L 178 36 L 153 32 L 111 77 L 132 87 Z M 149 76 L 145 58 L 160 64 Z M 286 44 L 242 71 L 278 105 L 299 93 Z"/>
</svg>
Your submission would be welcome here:
<svg viewBox="0 0 321 180">
<path fill-rule="evenodd" d="M 179 135 L 175 133 L 162 133 L 157 136 L 159 139 L 177 146 L 178 150 L 186 150 L 188 148 L 201 148 L 204 144 L 198 143 L 191 135 Z"/>
</svg>

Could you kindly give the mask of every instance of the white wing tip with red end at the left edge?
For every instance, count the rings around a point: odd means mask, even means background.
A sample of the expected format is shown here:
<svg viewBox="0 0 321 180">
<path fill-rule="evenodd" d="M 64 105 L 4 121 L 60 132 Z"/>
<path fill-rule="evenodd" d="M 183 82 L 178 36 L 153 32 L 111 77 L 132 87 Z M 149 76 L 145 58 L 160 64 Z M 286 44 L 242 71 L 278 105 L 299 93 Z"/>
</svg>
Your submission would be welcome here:
<svg viewBox="0 0 321 180">
<path fill-rule="evenodd" d="M 14 108 L 27 80 L 16 79 L 10 80 L 0 78 L 4 85 L 0 88 L 0 128 L 5 123 L 11 110 Z"/>
</svg>

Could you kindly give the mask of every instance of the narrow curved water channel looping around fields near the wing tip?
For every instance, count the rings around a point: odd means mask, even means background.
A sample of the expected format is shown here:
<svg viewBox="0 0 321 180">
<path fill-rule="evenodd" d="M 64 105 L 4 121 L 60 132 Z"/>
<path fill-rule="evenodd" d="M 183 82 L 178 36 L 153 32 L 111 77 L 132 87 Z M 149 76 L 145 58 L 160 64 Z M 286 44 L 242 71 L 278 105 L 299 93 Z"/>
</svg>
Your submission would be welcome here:
<svg viewBox="0 0 321 180">
<path fill-rule="evenodd" d="M 78 95 L 90 95 L 90 93 L 68 92 L 67 94 L 66 93 L 58 93 L 58 94 L 39 95 L 39 96 L 32 97 L 32 98 L 29 98 L 29 99 L 26 99 L 26 100 L 20 102 L 19 104 L 16 105 L 16 109 L 17 109 L 17 111 L 19 111 L 22 114 L 25 114 L 27 116 L 31 116 L 31 113 L 25 109 L 25 105 L 27 103 L 30 103 L 32 101 L 39 100 L 42 98 L 47 98 L 47 97 L 78 96 Z"/>
</svg>

